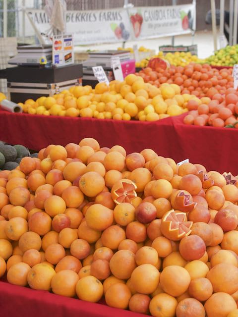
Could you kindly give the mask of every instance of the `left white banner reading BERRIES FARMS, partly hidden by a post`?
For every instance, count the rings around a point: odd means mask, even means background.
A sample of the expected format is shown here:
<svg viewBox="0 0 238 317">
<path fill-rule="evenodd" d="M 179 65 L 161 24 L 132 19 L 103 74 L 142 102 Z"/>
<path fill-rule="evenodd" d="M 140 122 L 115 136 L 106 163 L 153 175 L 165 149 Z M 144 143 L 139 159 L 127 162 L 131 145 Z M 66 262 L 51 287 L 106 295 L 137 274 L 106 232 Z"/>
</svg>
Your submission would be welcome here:
<svg viewBox="0 0 238 317">
<path fill-rule="evenodd" d="M 50 28 L 44 10 L 27 11 L 40 32 Z M 26 25 L 26 34 L 28 25 Z M 114 43 L 131 40 L 128 13 L 123 8 L 67 11 L 66 32 L 73 34 L 74 45 Z"/>
</svg>

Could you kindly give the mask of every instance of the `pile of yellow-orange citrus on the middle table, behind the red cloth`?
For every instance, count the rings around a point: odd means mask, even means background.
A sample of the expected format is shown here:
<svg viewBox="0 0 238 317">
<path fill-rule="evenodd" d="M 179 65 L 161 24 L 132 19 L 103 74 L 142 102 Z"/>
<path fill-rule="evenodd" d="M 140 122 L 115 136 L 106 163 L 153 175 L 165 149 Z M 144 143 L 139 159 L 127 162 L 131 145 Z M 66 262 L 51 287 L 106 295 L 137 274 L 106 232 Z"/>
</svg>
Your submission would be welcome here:
<svg viewBox="0 0 238 317">
<path fill-rule="evenodd" d="M 202 103 L 193 95 L 181 95 L 176 84 L 164 83 L 157 88 L 130 74 L 123 82 L 114 80 L 109 86 L 74 86 L 53 97 L 28 99 L 19 105 L 30 114 L 156 121 L 186 112 L 190 99 Z"/>
</svg>

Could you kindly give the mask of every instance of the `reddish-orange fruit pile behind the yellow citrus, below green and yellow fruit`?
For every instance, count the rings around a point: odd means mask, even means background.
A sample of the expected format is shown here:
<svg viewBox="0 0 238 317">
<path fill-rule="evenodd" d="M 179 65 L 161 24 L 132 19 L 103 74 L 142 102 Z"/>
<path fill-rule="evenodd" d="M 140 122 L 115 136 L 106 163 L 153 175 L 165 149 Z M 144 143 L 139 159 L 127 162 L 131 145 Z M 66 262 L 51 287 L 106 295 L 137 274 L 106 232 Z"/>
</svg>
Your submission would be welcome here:
<svg viewBox="0 0 238 317">
<path fill-rule="evenodd" d="M 184 67 L 171 65 L 167 69 L 146 67 L 136 73 L 146 83 L 160 87 L 163 83 L 177 84 L 181 94 L 192 94 L 197 97 L 212 97 L 224 94 L 233 87 L 232 68 L 220 70 L 208 64 L 190 63 Z"/>
</svg>

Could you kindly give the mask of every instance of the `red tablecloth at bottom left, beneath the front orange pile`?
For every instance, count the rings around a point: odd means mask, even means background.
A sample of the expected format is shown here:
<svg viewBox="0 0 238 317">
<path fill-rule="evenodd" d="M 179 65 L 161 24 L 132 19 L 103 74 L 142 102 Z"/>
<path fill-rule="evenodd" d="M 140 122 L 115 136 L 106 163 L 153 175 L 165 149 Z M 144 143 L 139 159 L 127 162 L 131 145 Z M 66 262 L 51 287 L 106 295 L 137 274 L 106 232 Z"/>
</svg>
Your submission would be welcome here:
<svg viewBox="0 0 238 317">
<path fill-rule="evenodd" d="M 0 282 L 1 317 L 145 317 L 102 304 Z"/>
</svg>

